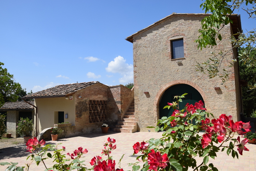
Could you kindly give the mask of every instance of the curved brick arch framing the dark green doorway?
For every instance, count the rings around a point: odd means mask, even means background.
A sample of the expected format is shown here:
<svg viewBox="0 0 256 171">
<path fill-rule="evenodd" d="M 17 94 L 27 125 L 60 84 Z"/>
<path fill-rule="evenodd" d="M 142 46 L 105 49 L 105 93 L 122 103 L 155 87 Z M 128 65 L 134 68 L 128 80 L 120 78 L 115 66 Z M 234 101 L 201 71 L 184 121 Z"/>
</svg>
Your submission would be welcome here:
<svg viewBox="0 0 256 171">
<path fill-rule="evenodd" d="M 159 101 L 160 101 L 161 96 L 163 95 L 165 90 L 167 90 L 168 88 L 170 88 L 171 86 L 174 86 L 176 84 L 188 84 L 188 85 L 192 86 L 193 88 L 195 88 L 203 97 L 203 100 L 205 103 L 205 108 L 208 107 L 209 104 L 208 104 L 207 96 L 205 95 L 204 91 L 199 86 L 197 86 L 195 83 L 188 81 L 188 80 L 175 80 L 175 81 L 171 81 L 171 82 L 165 84 L 165 86 L 163 86 L 156 94 L 155 101 L 154 101 L 154 107 L 153 107 L 154 117 L 156 118 L 156 120 L 159 119 Z M 155 123 L 157 123 L 157 122 L 155 121 Z"/>
</svg>

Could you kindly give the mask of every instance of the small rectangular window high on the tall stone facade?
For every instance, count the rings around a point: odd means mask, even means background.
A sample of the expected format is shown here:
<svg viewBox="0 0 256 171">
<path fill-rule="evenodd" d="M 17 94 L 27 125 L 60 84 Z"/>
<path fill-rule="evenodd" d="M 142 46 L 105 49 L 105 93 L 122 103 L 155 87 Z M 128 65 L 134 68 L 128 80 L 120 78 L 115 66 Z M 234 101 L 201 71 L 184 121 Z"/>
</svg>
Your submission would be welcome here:
<svg viewBox="0 0 256 171">
<path fill-rule="evenodd" d="M 172 59 L 184 57 L 183 39 L 171 40 Z"/>
</svg>

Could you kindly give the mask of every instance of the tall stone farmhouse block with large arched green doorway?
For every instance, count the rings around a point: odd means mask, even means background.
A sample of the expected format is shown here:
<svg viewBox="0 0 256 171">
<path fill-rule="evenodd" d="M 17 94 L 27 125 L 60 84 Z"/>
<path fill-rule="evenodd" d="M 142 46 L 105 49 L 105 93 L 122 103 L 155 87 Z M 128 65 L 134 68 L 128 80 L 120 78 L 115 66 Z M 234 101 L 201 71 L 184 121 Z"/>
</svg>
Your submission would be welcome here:
<svg viewBox="0 0 256 171">
<path fill-rule="evenodd" d="M 157 119 L 170 116 L 171 110 L 163 109 L 172 103 L 175 95 L 188 93 L 183 100 L 194 104 L 202 100 L 207 111 L 215 116 L 232 115 L 240 120 L 242 112 L 238 65 L 228 67 L 236 59 L 237 49 L 232 49 L 230 37 L 241 29 L 240 15 L 233 14 L 233 24 L 224 26 L 220 33 L 222 40 L 217 46 L 197 49 L 195 40 L 199 37 L 201 20 L 209 14 L 173 13 L 158 22 L 126 38 L 133 43 L 135 120 L 138 131 L 154 131 L 146 128 L 155 126 Z M 195 71 L 196 62 L 206 61 L 211 53 L 221 50 L 227 53 L 221 69 L 229 71 L 229 80 Z M 231 50 L 231 51 L 229 51 Z"/>
</svg>

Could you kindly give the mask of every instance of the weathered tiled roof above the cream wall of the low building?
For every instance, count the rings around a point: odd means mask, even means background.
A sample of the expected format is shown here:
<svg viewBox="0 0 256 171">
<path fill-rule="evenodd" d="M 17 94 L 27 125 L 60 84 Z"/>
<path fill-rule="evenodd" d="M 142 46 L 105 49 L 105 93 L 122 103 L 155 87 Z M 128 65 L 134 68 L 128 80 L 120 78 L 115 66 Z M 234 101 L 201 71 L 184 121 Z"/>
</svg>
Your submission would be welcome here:
<svg viewBox="0 0 256 171">
<path fill-rule="evenodd" d="M 64 97 L 69 94 L 73 94 L 76 91 L 83 89 L 85 87 L 91 86 L 93 84 L 100 83 L 99 81 L 92 82 L 82 82 L 82 83 L 73 83 L 73 84 L 63 84 L 58 85 L 46 90 L 42 90 L 36 93 L 28 94 L 22 99 L 29 98 L 46 98 L 46 97 Z M 104 84 L 103 84 L 104 85 Z"/>
</svg>

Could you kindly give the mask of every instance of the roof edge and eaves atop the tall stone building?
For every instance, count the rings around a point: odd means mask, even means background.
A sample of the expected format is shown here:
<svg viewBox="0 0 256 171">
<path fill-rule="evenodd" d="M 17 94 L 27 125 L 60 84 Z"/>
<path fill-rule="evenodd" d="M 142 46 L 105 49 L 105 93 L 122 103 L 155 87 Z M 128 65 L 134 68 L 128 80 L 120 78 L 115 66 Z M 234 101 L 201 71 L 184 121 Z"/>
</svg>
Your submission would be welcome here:
<svg viewBox="0 0 256 171">
<path fill-rule="evenodd" d="M 166 19 L 168 18 L 171 18 L 171 17 L 174 17 L 174 16 L 209 16 L 209 15 L 212 15 L 212 14 L 205 14 L 205 13 L 198 13 L 198 14 L 189 14 L 189 13 L 172 13 L 171 15 L 168 15 L 162 19 L 160 19 L 159 21 L 155 22 L 154 24 L 151 24 L 150 26 L 136 32 L 135 34 L 132 34 L 131 36 L 128 36 L 125 40 L 129 41 L 129 42 L 133 42 L 133 36 L 137 35 L 137 34 L 140 34 L 142 33 L 143 31 L 145 30 L 148 30 L 162 22 L 164 22 Z M 233 24 L 231 24 L 232 26 L 232 29 L 233 31 L 237 31 L 237 29 L 234 29 L 234 27 L 238 28 L 239 30 L 242 30 L 242 27 L 241 27 L 241 20 L 240 20 L 240 15 L 238 14 L 231 14 L 230 16 L 230 19 L 233 21 Z"/>
</svg>

